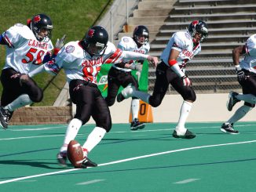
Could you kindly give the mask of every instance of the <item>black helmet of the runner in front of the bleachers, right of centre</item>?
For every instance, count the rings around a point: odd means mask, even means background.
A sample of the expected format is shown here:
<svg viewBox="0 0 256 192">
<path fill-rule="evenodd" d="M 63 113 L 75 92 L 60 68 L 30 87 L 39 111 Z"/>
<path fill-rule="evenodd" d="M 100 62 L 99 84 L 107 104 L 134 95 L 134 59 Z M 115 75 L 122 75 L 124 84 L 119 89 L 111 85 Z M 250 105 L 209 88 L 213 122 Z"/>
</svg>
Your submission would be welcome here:
<svg viewBox="0 0 256 192">
<path fill-rule="evenodd" d="M 189 24 L 188 32 L 191 34 L 192 38 L 194 38 L 196 33 L 202 34 L 200 42 L 205 41 L 208 37 L 207 24 L 202 20 L 193 20 L 191 24 Z"/>
</svg>

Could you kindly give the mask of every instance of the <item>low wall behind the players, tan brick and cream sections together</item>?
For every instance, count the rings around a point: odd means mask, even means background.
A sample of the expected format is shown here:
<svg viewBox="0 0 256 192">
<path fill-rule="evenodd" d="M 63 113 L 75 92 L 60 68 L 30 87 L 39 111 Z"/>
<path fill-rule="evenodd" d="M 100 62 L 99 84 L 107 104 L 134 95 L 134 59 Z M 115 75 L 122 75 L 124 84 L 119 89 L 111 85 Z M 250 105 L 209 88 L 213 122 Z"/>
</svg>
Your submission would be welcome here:
<svg viewBox="0 0 256 192">
<path fill-rule="evenodd" d="M 227 121 L 243 102 L 237 103 L 232 112 L 226 109 L 228 93 L 198 94 L 188 122 L 223 122 Z M 128 123 L 130 100 L 115 103 L 110 107 L 113 123 Z M 166 95 L 163 103 L 152 107 L 153 122 L 177 122 L 183 100 L 180 95 Z M 75 107 L 22 107 L 16 110 L 10 125 L 67 124 Z M 256 121 L 255 110 L 251 110 L 241 121 Z M 93 118 L 87 124 L 95 124 Z"/>
</svg>

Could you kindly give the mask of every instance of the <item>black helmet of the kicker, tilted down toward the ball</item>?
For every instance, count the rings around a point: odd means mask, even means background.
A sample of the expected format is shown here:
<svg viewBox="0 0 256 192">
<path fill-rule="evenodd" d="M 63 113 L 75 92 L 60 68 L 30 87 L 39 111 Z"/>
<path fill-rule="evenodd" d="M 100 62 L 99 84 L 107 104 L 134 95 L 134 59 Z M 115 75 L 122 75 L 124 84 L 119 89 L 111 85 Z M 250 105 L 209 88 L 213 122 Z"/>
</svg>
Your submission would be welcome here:
<svg viewBox="0 0 256 192">
<path fill-rule="evenodd" d="M 108 32 L 101 26 L 90 27 L 82 38 L 82 44 L 91 56 L 102 56 L 107 49 Z"/>
</svg>

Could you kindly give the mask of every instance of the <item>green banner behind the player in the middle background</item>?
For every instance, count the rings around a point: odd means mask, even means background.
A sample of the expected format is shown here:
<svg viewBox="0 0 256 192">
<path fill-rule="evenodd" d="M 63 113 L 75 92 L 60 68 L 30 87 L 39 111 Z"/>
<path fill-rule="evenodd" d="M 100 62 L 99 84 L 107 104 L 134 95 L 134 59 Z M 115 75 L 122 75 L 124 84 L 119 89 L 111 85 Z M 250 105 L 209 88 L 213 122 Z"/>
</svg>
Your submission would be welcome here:
<svg viewBox="0 0 256 192">
<path fill-rule="evenodd" d="M 108 71 L 112 67 L 112 64 L 103 64 L 101 66 L 101 71 L 97 74 L 97 85 L 101 90 L 102 96 L 106 97 L 108 95 Z M 132 71 L 133 77 L 138 78 L 137 71 Z M 143 92 L 148 92 L 148 60 L 144 60 L 141 74 L 139 75 L 139 90 Z M 123 87 L 120 87 L 119 92 L 122 91 Z"/>
</svg>

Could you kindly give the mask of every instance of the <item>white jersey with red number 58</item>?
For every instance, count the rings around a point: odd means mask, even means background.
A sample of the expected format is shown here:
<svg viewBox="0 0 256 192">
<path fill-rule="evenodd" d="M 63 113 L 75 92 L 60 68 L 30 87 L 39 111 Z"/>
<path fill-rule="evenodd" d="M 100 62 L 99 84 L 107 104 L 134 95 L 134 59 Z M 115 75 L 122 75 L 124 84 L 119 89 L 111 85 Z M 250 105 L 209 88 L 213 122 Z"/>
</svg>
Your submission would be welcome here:
<svg viewBox="0 0 256 192">
<path fill-rule="evenodd" d="M 6 46 L 5 68 L 12 67 L 21 74 L 33 71 L 46 53 L 53 49 L 53 44 L 47 38 L 46 42 L 39 42 L 29 27 L 23 24 L 15 24 L 2 34 Z M 49 40 L 49 41 L 48 41 Z"/>
</svg>

